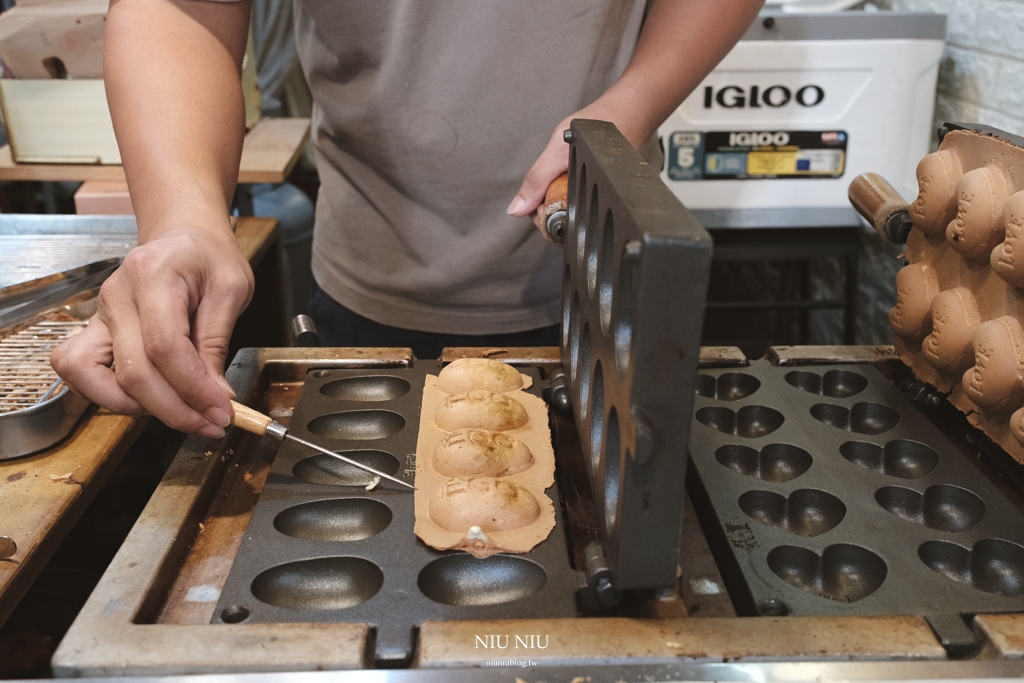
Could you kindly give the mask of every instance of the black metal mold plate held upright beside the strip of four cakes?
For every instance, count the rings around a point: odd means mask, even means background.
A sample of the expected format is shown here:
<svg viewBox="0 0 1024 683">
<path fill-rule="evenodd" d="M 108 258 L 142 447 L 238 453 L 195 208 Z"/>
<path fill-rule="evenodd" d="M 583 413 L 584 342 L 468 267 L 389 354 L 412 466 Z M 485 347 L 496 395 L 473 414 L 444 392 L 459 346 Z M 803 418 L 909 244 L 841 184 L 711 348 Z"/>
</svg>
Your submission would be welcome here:
<svg viewBox="0 0 1024 683">
<path fill-rule="evenodd" d="M 620 589 L 671 586 L 711 238 L 613 125 L 570 131 L 561 354 L 601 545 Z"/>
</svg>

